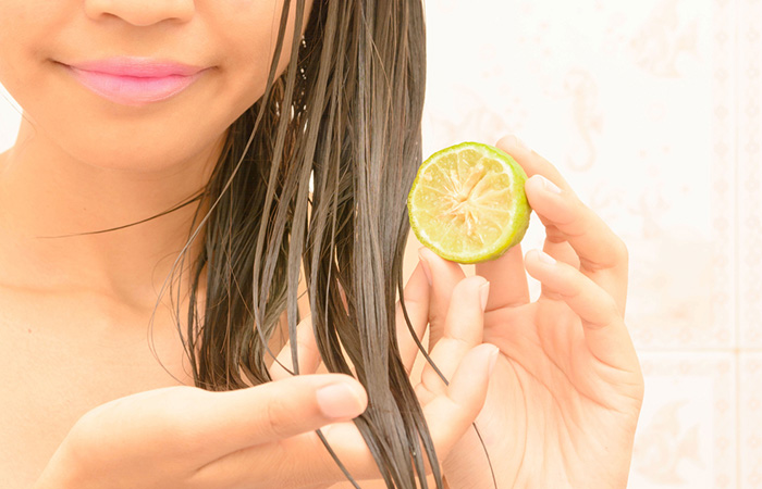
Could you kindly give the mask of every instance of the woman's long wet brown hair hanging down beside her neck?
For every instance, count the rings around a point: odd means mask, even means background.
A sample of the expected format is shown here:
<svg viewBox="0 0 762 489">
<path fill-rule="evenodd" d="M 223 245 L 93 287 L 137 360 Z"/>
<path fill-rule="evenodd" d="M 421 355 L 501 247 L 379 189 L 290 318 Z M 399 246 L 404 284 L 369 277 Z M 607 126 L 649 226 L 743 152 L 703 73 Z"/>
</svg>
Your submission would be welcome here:
<svg viewBox="0 0 762 489">
<path fill-rule="evenodd" d="M 355 423 L 388 487 L 426 487 L 425 457 L 441 487 L 394 324 L 421 161 L 422 2 L 315 0 L 275 77 L 292 8 L 302 25 L 305 1 L 285 0 L 266 92 L 231 126 L 206 189 L 183 334 L 194 380 L 211 390 L 270 380 L 268 341 L 284 311 L 295 358 L 304 271 L 327 368 L 354 369 L 368 391 Z"/>
</svg>

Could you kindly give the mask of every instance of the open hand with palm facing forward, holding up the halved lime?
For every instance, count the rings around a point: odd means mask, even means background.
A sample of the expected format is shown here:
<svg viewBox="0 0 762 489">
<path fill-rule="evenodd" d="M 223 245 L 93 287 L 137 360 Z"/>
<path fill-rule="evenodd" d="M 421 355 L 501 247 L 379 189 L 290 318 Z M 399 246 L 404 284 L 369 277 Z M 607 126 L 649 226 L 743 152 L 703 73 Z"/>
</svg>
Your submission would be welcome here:
<svg viewBox="0 0 762 489">
<path fill-rule="evenodd" d="M 626 248 L 549 162 L 513 137 L 497 146 L 530 177 L 527 198 L 546 239 L 544 253 L 530 251 L 526 263 L 517 246 L 476 266 L 490 283 L 483 335 L 462 339 L 464 348 L 489 342 L 501 352 L 476 423 L 496 487 L 625 488 L 643 397 L 624 324 Z M 464 274 L 429 250 L 421 258 L 432 280 L 430 343 L 438 348 Z M 542 284 L 536 302 L 525 266 Z M 450 452 L 444 476 L 452 489 L 495 487 L 474 429 Z"/>
</svg>

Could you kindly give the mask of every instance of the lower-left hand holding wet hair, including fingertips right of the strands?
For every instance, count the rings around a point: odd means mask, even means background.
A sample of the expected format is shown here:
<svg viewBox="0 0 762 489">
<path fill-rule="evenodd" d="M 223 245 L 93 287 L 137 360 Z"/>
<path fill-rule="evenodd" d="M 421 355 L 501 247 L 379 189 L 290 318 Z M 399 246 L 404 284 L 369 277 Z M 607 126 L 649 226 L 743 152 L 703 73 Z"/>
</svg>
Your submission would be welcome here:
<svg viewBox="0 0 762 489">
<path fill-rule="evenodd" d="M 422 330 L 429 288 L 420 269 L 413 281 L 418 296 L 408 312 Z M 468 314 L 468 321 L 480 321 L 478 302 Z M 297 354 L 307 373 L 320 363 L 311 330 L 309 321 L 297 330 Z M 365 440 L 351 423 L 367 404 L 360 384 L 339 374 L 292 376 L 290 352 L 286 344 L 271 367 L 273 381 L 261 386 L 228 392 L 171 387 L 96 408 L 69 432 L 35 489 L 328 487 L 345 476 L 315 432 L 318 428 L 353 477 L 378 477 Z M 437 394 L 423 403 L 440 454 L 479 413 L 497 352 L 482 346 L 457 355 L 443 353 L 440 348 L 432 355 L 453 380 L 448 387 L 439 379 L 430 383 L 427 390 Z"/>
</svg>

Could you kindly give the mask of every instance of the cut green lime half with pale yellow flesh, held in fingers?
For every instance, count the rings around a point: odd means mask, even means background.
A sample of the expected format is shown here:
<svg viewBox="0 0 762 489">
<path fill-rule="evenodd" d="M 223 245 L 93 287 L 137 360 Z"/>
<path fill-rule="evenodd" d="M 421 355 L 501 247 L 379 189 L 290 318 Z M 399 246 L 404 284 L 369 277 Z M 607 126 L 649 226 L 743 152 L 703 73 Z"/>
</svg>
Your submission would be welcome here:
<svg viewBox="0 0 762 489">
<path fill-rule="evenodd" d="M 526 179 L 509 154 L 488 145 L 463 142 L 438 151 L 413 183 L 410 226 L 423 246 L 446 260 L 494 260 L 529 226 Z"/>
</svg>

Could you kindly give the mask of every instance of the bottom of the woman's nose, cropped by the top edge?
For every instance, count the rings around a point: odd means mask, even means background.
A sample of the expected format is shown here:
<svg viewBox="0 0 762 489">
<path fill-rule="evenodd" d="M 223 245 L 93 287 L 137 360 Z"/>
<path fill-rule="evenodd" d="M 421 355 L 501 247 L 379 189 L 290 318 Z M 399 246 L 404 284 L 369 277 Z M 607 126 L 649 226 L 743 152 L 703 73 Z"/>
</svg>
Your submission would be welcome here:
<svg viewBox="0 0 762 489">
<path fill-rule="evenodd" d="M 163 21 L 187 22 L 196 4 L 194 0 L 86 0 L 85 13 L 93 20 L 113 16 L 145 27 Z"/>
</svg>

